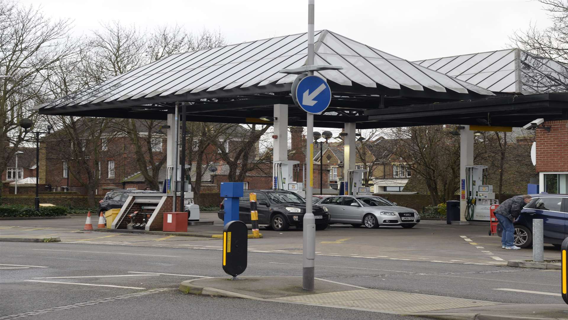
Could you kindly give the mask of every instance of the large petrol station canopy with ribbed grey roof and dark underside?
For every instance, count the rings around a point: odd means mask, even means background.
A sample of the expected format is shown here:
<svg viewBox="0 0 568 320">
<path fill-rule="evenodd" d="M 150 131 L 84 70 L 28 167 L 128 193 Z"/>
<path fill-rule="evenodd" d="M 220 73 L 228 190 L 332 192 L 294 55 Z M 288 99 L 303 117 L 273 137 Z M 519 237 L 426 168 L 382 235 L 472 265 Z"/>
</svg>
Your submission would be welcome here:
<svg viewBox="0 0 568 320">
<path fill-rule="evenodd" d="M 306 33 L 174 54 L 40 105 L 38 109 L 40 114 L 60 116 L 165 120 L 168 113 L 174 112 L 177 102 L 186 102 L 188 121 L 262 123 L 265 121 L 258 118 L 272 115 L 274 104 L 294 104 L 290 91 L 296 75 L 279 71 L 306 65 L 306 60 Z M 511 93 L 492 92 L 494 88 L 483 88 L 481 82 L 471 84 L 329 30 L 316 31 L 314 63 L 343 67 L 316 72 L 328 81 L 333 92 L 329 108 L 315 115 L 316 126 L 343 128 L 345 122 L 357 122 L 357 128 L 362 129 L 479 124 L 476 122 L 479 112 L 456 120 L 451 109 L 459 101 L 481 101 L 482 105 L 492 106 L 488 114 L 508 115 L 496 117 L 490 121 L 491 125 L 517 125 L 525 121 L 515 120 L 514 115 L 519 112 Z M 546 109 L 549 116 L 562 117 L 568 98 L 557 94 L 528 100 L 531 103 L 519 106 L 520 113 L 542 113 Z M 511 104 L 515 105 L 514 112 Z M 450 106 L 446 108 L 450 110 L 440 113 L 432 109 L 440 105 Z M 432 110 L 431 117 L 406 119 L 404 112 L 409 109 Z M 478 105 L 474 109 L 482 110 Z M 389 116 L 381 117 L 382 112 Z M 289 116 L 290 125 L 306 123 L 306 114 L 300 109 L 290 108 Z M 485 111 L 481 117 L 488 118 Z M 547 120 L 553 119 L 547 117 Z"/>
</svg>

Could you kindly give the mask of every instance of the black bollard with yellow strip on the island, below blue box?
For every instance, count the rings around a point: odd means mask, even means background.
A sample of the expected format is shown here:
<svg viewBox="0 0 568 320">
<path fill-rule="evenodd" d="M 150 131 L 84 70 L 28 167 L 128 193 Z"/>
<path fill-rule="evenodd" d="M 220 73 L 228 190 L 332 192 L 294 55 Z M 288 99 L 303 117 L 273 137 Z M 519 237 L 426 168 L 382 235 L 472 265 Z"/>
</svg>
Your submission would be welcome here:
<svg viewBox="0 0 568 320">
<path fill-rule="evenodd" d="M 231 221 L 223 228 L 223 270 L 233 280 L 247 269 L 247 225 Z"/>
</svg>

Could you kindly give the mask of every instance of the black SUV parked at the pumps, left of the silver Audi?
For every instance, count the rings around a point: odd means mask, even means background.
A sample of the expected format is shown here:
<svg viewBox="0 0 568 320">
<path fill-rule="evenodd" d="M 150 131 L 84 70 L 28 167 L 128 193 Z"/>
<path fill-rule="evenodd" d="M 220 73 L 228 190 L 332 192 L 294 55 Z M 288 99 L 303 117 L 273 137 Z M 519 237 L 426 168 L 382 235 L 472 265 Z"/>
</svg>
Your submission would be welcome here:
<svg viewBox="0 0 568 320">
<path fill-rule="evenodd" d="M 246 190 L 239 202 L 239 220 L 250 224 L 250 192 L 256 193 L 258 224 L 266 224 L 275 231 L 286 231 L 290 225 L 302 226 L 306 213 L 306 200 L 298 194 L 285 190 Z M 225 216 L 224 200 L 217 215 L 223 220 Z M 328 227 L 327 208 L 314 204 L 312 212 L 316 216 L 316 230 Z"/>
</svg>

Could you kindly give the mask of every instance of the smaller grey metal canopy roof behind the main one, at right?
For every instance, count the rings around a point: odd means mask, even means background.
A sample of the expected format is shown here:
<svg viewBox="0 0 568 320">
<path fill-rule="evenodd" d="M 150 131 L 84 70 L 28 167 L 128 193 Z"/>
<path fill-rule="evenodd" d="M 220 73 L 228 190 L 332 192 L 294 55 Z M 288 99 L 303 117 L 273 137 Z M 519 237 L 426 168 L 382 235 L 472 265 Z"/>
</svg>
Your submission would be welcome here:
<svg viewBox="0 0 568 320">
<path fill-rule="evenodd" d="M 568 66 L 519 48 L 419 60 L 415 63 L 495 92 L 568 91 Z"/>
</svg>

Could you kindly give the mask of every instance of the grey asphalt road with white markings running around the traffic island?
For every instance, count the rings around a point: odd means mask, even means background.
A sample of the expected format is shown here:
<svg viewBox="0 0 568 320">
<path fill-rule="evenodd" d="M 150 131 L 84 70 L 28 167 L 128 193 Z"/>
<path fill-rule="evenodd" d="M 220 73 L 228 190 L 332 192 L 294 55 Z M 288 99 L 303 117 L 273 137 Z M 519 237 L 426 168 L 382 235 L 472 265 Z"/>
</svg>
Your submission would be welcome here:
<svg viewBox="0 0 568 320">
<path fill-rule="evenodd" d="M 0 319 L 27 312 L 32 319 L 402 318 L 178 292 L 183 280 L 226 276 L 221 251 L 214 247 L 5 242 L 0 245 L 0 257 Z M 243 276 L 301 275 L 302 255 L 249 252 L 248 259 Z M 559 272 L 502 265 L 318 256 L 316 277 L 475 300 L 562 303 L 557 296 Z"/>
</svg>

